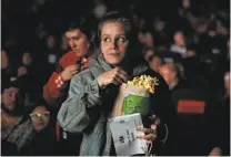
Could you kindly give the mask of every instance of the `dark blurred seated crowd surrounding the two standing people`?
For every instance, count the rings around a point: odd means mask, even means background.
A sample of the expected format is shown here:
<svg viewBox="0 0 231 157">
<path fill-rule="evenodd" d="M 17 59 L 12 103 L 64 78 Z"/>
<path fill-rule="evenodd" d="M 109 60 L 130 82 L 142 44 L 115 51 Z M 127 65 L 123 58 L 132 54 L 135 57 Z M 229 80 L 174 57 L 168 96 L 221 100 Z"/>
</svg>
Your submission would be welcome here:
<svg viewBox="0 0 231 157">
<path fill-rule="evenodd" d="M 66 38 L 70 24 L 88 19 L 96 32 L 98 21 L 110 10 L 132 19 L 135 53 L 169 85 L 175 108 L 169 151 L 200 155 L 208 150 L 209 155 L 212 148 L 203 146 L 212 142 L 230 155 L 230 11 L 229 1 L 217 0 L 3 0 L 2 155 L 76 155 L 70 146 L 74 143 L 60 139 L 59 108 L 43 100 L 43 86 L 70 51 Z M 203 102 L 207 107 L 198 103 L 199 107 L 189 109 L 181 100 Z"/>
</svg>

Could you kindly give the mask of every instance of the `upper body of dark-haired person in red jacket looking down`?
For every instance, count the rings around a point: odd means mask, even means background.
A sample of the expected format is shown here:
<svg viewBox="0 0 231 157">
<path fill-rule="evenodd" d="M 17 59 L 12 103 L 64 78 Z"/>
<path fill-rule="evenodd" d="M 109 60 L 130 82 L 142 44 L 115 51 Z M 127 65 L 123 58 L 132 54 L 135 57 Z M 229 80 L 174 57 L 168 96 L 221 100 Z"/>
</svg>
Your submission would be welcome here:
<svg viewBox="0 0 231 157">
<path fill-rule="evenodd" d="M 66 32 L 71 51 L 59 60 L 54 72 L 43 87 L 43 97 L 50 106 L 60 107 L 68 96 L 72 76 L 88 67 L 89 57 L 92 55 L 91 34 L 84 22 L 80 25 L 72 24 Z"/>
</svg>

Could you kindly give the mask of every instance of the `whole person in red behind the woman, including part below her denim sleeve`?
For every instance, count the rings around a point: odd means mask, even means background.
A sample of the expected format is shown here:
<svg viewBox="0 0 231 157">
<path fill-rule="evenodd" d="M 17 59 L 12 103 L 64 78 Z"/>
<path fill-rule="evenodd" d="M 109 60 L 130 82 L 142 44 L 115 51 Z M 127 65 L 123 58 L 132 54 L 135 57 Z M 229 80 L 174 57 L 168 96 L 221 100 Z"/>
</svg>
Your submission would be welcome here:
<svg viewBox="0 0 231 157">
<path fill-rule="evenodd" d="M 48 83 L 43 86 L 43 98 L 54 109 L 59 109 L 68 97 L 69 84 L 73 75 L 89 66 L 93 54 L 93 31 L 83 21 L 81 24 L 71 23 L 66 38 L 71 50 L 58 62 Z M 77 147 L 81 144 L 81 135 L 71 135 L 63 130 L 58 121 L 56 124 L 57 140 L 60 142 L 60 155 L 77 155 Z"/>
</svg>

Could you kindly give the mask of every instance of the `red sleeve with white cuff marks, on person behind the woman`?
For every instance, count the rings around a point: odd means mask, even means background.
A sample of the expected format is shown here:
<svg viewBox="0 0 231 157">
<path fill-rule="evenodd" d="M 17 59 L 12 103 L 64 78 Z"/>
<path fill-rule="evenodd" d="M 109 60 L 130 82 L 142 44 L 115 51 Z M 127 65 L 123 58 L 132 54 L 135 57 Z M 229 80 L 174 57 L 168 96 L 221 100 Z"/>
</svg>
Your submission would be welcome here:
<svg viewBox="0 0 231 157">
<path fill-rule="evenodd" d="M 43 98 L 50 106 L 59 107 L 67 96 L 67 90 L 68 83 L 62 81 L 59 73 L 53 72 L 43 86 Z"/>
</svg>

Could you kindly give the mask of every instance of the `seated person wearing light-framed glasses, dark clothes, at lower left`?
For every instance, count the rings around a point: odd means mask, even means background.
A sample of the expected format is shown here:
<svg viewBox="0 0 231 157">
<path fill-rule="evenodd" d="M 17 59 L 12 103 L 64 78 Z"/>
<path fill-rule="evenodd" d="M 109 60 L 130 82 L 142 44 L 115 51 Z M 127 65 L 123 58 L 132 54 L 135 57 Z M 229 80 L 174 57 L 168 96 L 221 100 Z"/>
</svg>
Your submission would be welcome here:
<svg viewBox="0 0 231 157">
<path fill-rule="evenodd" d="M 34 106 L 30 118 L 36 130 L 33 140 L 21 151 L 21 155 L 57 155 L 54 127 L 51 125 L 49 108 L 44 103 Z"/>
</svg>

